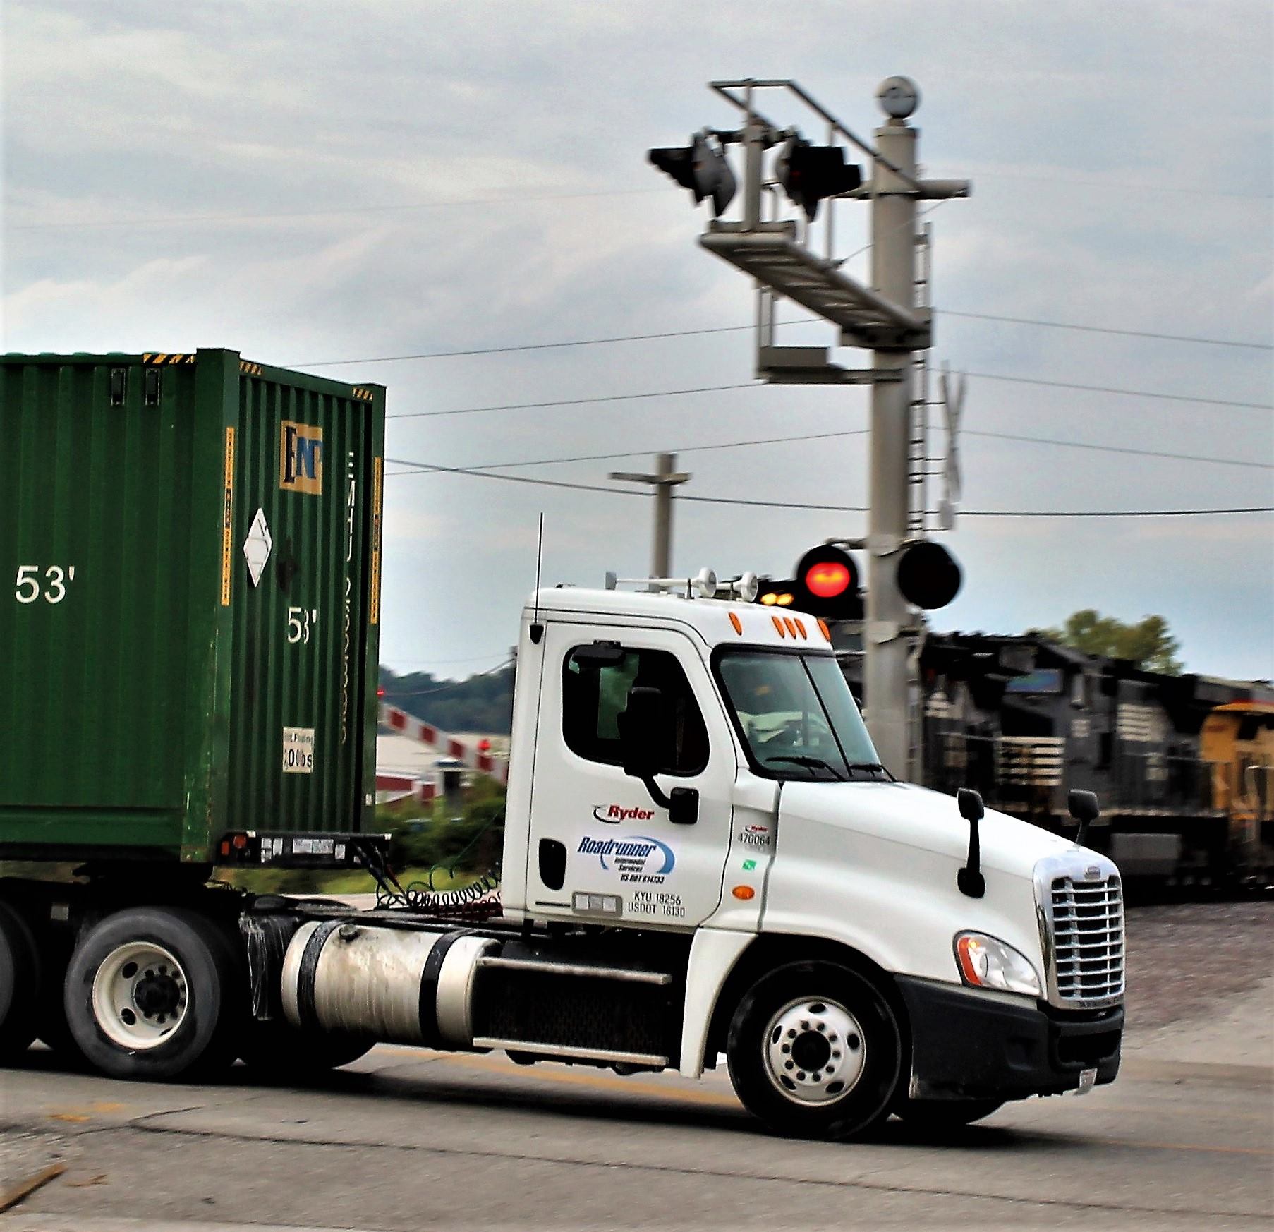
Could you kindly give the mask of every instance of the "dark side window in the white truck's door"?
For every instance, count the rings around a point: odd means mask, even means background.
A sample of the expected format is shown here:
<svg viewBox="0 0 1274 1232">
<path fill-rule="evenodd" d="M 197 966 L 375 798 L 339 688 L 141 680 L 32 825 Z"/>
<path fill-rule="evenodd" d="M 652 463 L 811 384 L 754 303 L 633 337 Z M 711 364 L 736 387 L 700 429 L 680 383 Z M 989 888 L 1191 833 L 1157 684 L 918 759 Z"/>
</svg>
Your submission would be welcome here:
<svg viewBox="0 0 1274 1232">
<path fill-rule="evenodd" d="M 664 722 L 655 733 L 659 772 L 697 775 L 708 762 L 703 715 L 676 656 L 665 650 L 624 650 L 614 664 L 598 665 L 567 654 L 562 668 L 562 735 L 567 748 L 590 762 L 622 766 L 619 716 L 634 685 L 657 688 Z"/>
</svg>

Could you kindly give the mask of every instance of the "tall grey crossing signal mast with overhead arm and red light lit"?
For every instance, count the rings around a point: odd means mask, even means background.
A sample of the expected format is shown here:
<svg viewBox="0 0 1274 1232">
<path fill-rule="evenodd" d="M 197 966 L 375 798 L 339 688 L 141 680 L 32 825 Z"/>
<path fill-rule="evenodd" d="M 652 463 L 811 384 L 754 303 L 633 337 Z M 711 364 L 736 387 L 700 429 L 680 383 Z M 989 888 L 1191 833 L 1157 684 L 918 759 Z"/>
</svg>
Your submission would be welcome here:
<svg viewBox="0 0 1274 1232">
<path fill-rule="evenodd" d="M 884 764 L 905 771 L 911 754 L 908 643 L 919 632 L 915 609 L 943 606 L 959 589 L 959 566 L 927 538 L 925 479 L 931 460 L 924 355 L 933 345 L 933 311 L 927 303 L 929 234 L 927 228 L 917 229 L 917 205 L 968 196 L 970 185 L 966 180 L 920 178 L 919 130 L 907 122 L 920 93 L 907 78 L 889 78 L 877 90 L 887 118 L 875 130 L 874 145 L 795 82 L 745 79 L 712 82 L 710 88 L 739 112 L 740 126 L 703 129 L 684 148 L 652 149 L 650 159 L 689 189 L 696 204 L 711 200 L 713 217 L 699 243 L 755 283 L 757 376 L 785 385 L 871 386 L 868 535 L 854 543 L 868 558 L 866 720 Z M 757 106 L 761 92 L 795 97 L 815 125 L 826 125 L 827 143 L 818 145 L 800 130 L 771 121 Z M 726 158 L 731 145 L 743 147 L 740 219 L 722 217 L 739 189 Z M 846 159 L 846 147 L 857 150 L 869 178 L 864 178 L 862 167 Z M 778 153 L 767 158 L 772 149 Z M 803 219 L 780 217 L 780 194 L 804 214 Z M 845 273 L 845 261 L 834 256 L 832 203 L 845 199 L 870 203 L 869 284 Z M 823 251 L 818 252 L 814 232 L 820 213 Z M 778 345 L 775 306 L 780 299 L 834 325 L 840 345 L 871 352 L 870 366 L 832 363 L 828 348 Z M 948 410 L 948 423 L 954 443 L 958 413 L 953 420 Z M 948 452 L 950 494 L 954 455 L 950 447 Z M 953 503 L 945 499 L 941 529 L 950 529 L 953 516 Z M 819 604 L 824 610 L 831 605 L 836 609 L 832 618 L 852 618 L 846 613 L 861 603 L 852 558 L 842 553 L 854 571 L 851 586 L 845 573 L 826 564 L 822 572 L 810 572 L 808 555 L 790 582 L 767 582 L 761 601 L 812 614 L 822 614 L 813 610 Z M 845 586 L 836 594 L 818 594 L 820 586 L 834 589 L 838 582 Z"/>
</svg>

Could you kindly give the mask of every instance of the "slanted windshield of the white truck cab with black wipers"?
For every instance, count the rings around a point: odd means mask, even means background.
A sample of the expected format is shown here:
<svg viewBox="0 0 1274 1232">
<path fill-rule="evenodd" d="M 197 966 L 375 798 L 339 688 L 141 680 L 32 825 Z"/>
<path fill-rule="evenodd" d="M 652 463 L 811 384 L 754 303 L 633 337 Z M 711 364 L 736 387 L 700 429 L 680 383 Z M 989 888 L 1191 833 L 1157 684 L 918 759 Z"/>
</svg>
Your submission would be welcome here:
<svg viewBox="0 0 1274 1232">
<path fill-rule="evenodd" d="M 752 762 L 764 773 L 824 780 L 882 773 L 832 655 L 730 650 L 717 670 Z"/>
</svg>

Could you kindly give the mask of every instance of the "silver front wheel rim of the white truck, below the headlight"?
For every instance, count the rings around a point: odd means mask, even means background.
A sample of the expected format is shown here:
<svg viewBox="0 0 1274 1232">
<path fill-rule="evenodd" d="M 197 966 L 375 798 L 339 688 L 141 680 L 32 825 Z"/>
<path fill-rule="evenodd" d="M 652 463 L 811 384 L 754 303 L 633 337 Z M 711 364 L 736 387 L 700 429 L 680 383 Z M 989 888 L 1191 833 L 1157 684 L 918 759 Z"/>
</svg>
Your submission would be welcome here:
<svg viewBox="0 0 1274 1232">
<path fill-rule="evenodd" d="M 766 1029 L 766 1073 L 794 1103 L 843 1099 L 862 1075 L 866 1042 L 859 1021 L 838 1001 L 789 1001 Z"/>
</svg>

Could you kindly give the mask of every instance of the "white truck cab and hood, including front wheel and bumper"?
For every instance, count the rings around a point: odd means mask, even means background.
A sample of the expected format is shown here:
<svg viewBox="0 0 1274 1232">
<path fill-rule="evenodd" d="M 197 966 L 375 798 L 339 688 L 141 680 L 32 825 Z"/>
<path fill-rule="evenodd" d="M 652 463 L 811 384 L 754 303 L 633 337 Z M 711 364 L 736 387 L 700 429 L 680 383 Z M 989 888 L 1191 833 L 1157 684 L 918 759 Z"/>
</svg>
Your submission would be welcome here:
<svg viewBox="0 0 1274 1232">
<path fill-rule="evenodd" d="M 640 935 L 679 1031 L 628 1064 L 725 1052 L 787 1131 L 971 1120 L 1119 1069 L 1115 865 L 899 782 L 820 622 L 694 580 L 527 603 L 503 908 L 564 949 Z"/>
</svg>

